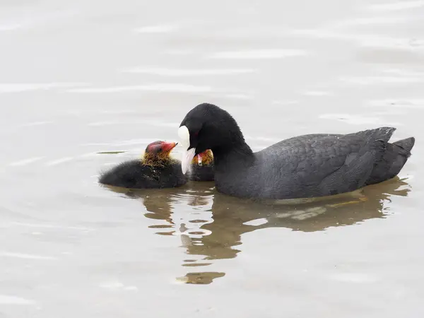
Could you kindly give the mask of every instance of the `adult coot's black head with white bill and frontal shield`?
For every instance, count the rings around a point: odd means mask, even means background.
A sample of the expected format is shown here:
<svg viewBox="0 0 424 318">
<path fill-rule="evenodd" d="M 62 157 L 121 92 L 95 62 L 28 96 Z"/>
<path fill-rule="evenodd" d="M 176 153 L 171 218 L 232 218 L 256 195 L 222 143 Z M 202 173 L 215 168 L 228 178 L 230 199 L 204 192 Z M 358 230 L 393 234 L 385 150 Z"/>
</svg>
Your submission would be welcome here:
<svg viewBox="0 0 424 318">
<path fill-rule="evenodd" d="M 220 107 L 208 103 L 197 105 L 187 113 L 179 125 L 178 136 L 184 148 L 183 173 L 187 172 L 194 155 L 207 149 L 213 152 L 214 160 L 216 155 L 232 148 L 251 153 L 235 119 Z"/>
</svg>

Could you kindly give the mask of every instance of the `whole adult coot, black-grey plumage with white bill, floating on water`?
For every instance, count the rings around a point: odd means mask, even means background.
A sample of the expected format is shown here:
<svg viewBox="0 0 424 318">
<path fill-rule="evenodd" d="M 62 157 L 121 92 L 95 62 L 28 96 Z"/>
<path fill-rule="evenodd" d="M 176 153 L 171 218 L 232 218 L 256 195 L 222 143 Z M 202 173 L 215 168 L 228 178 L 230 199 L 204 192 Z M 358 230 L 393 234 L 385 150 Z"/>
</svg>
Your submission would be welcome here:
<svg viewBox="0 0 424 318">
<path fill-rule="evenodd" d="M 224 194 L 295 199 L 351 192 L 391 179 L 404 167 L 415 139 L 389 143 L 394 130 L 297 136 L 254 153 L 235 119 L 205 103 L 190 110 L 179 126 L 182 172 L 194 155 L 211 149 L 216 189 Z"/>
</svg>

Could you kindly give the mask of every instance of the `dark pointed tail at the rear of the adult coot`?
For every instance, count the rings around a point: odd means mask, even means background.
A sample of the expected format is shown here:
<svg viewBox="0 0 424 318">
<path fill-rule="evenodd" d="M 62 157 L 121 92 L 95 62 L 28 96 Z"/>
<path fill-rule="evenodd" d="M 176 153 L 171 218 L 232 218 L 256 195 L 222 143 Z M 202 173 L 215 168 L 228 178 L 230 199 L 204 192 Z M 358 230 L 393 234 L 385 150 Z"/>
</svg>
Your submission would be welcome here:
<svg viewBox="0 0 424 318">
<path fill-rule="evenodd" d="M 376 184 L 395 177 L 411 155 L 414 143 L 414 137 L 386 143 L 382 159 L 375 163 L 366 184 Z"/>
</svg>

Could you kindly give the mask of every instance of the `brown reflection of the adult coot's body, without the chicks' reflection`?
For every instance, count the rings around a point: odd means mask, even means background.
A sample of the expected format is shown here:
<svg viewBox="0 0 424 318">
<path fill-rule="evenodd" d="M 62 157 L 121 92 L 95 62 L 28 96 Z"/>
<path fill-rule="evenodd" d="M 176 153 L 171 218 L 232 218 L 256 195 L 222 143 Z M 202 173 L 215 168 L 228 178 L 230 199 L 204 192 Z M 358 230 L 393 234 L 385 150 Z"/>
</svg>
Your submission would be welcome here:
<svg viewBox="0 0 424 318">
<path fill-rule="evenodd" d="M 287 206 L 259 204 L 223 194 L 213 198 L 213 223 L 203 225 L 207 230 L 199 241 L 187 245 L 187 254 L 203 255 L 205 261 L 236 257 L 241 235 L 263 228 L 290 228 L 303 232 L 353 225 L 371 218 L 384 218 L 384 201 L 390 196 L 407 196 L 408 184 L 398 177 L 382 184 L 365 187 L 362 193 L 353 192 L 338 198 Z"/>
</svg>

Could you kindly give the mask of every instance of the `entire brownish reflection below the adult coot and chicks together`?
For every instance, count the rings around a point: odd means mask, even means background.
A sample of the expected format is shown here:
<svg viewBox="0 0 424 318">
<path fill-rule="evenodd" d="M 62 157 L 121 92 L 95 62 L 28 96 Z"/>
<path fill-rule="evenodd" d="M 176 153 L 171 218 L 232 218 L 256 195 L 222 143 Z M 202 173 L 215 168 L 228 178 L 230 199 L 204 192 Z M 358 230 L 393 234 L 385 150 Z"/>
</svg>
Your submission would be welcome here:
<svg viewBox="0 0 424 318">
<path fill-rule="evenodd" d="M 129 190 L 109 187 L 126 196 L 141 198 L 146 217 L 160 220 L 149 228 L 158 235 L 179 235 L 189 255 L 182 266 L 210 265 L 216 259 L 236 257 L 241 235 L 261 228 L 290 228 L 303 232 L 353 225 L 370 218 L 384 218 L 384 201 L 407 196 L 409 185 L 398 177 L 358 192 L 315 199 L 254 202 L 225 196 L 213 182 L 189 182 L 178 189 Z M 225 273 L 189 272 L 184 283 L 211 283 Z"/>
</svg>

